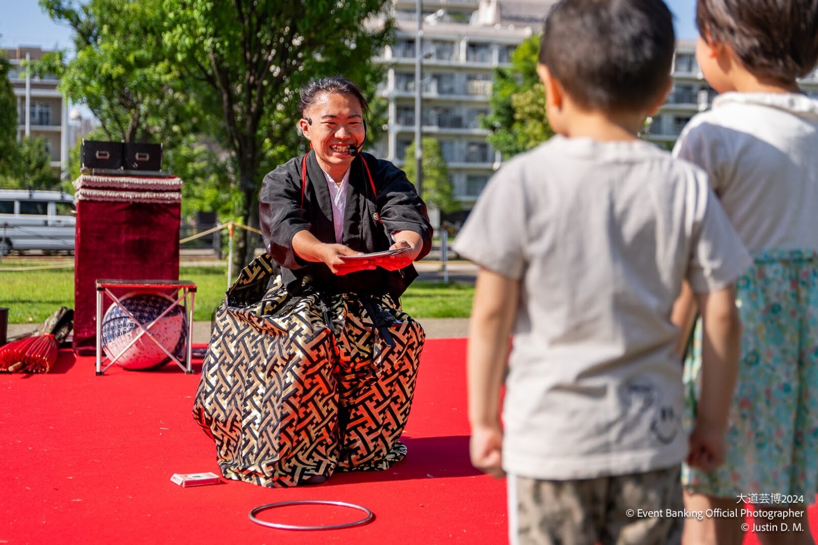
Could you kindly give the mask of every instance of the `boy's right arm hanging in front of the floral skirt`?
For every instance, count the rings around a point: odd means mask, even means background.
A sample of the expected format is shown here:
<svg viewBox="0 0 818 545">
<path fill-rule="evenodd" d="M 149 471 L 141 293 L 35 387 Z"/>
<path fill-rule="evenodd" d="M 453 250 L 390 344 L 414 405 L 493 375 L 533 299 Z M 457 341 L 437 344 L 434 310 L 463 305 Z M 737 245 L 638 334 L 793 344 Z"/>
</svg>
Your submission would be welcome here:
<svg viewBox="0 0 818 545">
<path fill-rule="evenodd" d="M 691 466 L 711 471 L 724 462 L 724 434 L 739 368 L 741 321 L 732 286 L 697 296 L 702 314 L 702 393 L 690 434 Z"/>
</svg>

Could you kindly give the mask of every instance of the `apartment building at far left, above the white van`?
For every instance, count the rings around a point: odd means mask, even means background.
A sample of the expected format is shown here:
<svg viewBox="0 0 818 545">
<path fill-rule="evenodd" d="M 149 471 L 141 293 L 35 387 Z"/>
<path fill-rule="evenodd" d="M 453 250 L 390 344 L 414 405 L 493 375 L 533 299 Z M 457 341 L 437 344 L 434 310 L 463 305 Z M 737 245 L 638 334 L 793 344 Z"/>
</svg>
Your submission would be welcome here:
<svg viewBox="0 0 818 545">
<path fill-rule="evenodd" d="M 11 60 L 9 80 L 17 99 L 17 136 L 42 137 L 55 173 L 65 176 L 68 165 L 68 106 L 57 91 L 56 77 L 38 78 L 25 69 L 25 61 L 38 60 L 48 51 L 41 47 L 3 48 Z"/>
</svg>

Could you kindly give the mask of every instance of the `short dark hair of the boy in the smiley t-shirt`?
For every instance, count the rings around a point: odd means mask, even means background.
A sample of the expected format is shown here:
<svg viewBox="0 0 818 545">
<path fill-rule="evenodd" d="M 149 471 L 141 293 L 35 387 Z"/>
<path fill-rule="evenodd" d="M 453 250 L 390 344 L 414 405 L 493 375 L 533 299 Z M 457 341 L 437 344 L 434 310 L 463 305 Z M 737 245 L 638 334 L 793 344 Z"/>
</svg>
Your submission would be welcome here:
<svg viewBox="0 0 818 545">
<path fill-rule="evenodd" d="M 583 107 L 637 111 L 667 86 L 675 47 L 662 0 L 561 0 L 546 17 L 539 60 Z"/>
</svg>

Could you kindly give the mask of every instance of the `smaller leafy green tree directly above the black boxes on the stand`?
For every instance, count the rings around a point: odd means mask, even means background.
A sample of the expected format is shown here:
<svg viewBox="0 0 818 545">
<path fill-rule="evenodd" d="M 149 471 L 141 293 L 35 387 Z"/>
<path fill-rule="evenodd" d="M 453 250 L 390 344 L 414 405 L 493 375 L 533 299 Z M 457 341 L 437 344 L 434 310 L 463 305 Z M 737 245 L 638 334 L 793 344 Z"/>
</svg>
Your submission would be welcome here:
<svg viewBox="0 0 818 545">
<path fill-rule="evenodd" d="M 162 42 L 161 0 L 39 0 L 56 22 L 74 30 L 75 56 L 47 54 L 37 72 L 60 77 L 60 90 L 100 120 L 106 140 L 173 146 L 203 117 L 182 87 Z"/>
</svg>

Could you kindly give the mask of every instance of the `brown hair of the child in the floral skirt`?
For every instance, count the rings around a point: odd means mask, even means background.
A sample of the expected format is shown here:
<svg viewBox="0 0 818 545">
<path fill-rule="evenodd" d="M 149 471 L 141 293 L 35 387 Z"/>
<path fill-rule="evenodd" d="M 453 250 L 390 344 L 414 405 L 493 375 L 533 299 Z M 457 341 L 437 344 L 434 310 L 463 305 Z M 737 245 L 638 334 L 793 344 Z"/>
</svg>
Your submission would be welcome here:
<svg viewBox="0 0 818 545">
<path fill-rule="evenodd" d="M 757 78 L 792 83 L 818 63 L 818 0 L 698 0 L 696 26 Z"/>
</svg>

